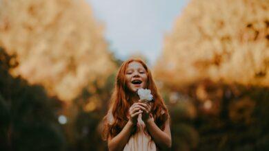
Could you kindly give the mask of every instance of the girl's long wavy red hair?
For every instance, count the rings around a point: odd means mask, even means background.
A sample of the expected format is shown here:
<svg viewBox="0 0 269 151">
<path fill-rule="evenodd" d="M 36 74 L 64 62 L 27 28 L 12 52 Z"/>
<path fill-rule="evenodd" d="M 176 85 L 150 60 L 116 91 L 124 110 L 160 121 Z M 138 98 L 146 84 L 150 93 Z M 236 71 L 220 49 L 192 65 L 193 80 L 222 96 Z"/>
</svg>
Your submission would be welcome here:
<svg viewBox="0 0 269 151">
<path fill-rule="evenodd" d="M 161 128 L 161 130 L 164 129 L 164 124 L 168 119 L 168 110 L 163 102 L 161 95 L 159 95 L 157 91 L 157 86 L 152 78 L 150 69 L 148 69 L 146 64 L 140 59 L 128 59 L 123 62 L 121 67 L 119 68 L 112 97 L 110 98 L 108 112 L 112 112 L 114 122 L 112 124 L 109 124 L 108 114 L 103 117 L 104 127 L 102 137 L 104 140 L 107 140 L 108 137 L 115 137 L 116 135 L 118 135 L 128 122 L 128 111 L 130 106 L 132 106 L 132 104 L 134 103 L 130 99 L 131 92 L 128 90 L 128 86 L 126 84 L 126 69 L 130 62 L 139 62 L 146 69 L 146 73 L 148 75 L 146 88 L 151 90 L 151 93 L 154 98 L 154 102 L 152 102 L 151 113 L 153 118 L 155 119 L 155 123 L 159 128 Z M 134 133 L 135 130 L 132 132 L 132 134 Z"/>
</svg>

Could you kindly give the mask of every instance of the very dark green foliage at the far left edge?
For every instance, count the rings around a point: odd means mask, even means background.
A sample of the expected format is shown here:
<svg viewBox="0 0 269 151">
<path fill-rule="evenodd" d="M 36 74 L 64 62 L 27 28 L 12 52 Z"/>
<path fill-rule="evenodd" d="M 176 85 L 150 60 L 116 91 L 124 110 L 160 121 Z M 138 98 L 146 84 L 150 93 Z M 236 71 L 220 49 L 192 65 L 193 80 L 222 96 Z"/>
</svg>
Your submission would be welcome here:
<svg viewBox="0 0 269 151">
<path fill-rule="evenodd" d="M 15 60 L 0 48 L 0 150 L 64 150 L 57 123 L 61 102 L 42 86 L 12 77 Z"/>
</svg>

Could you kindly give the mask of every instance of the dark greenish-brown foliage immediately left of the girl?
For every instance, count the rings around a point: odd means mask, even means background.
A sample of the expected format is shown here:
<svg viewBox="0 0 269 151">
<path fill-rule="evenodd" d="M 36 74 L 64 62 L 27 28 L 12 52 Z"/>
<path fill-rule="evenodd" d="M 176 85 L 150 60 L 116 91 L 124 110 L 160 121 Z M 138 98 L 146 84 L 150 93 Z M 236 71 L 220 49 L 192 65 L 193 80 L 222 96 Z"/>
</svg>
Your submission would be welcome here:
<svg viewBox="0 0 269 151">
<path fill-rule="evenodd" d="M 103 84 L 101 79 L 89 83 L 72 101 L 68 113 L 73 115 L 66 126 L 70 150 L 107 150 L 107 142 L 101 139 L 102 119 L 108 111 L 115 75 L 116 72 L 109 75 Z M 91 103 L 95 107 L 89 110 L 86 106 Z"/>
</svg>

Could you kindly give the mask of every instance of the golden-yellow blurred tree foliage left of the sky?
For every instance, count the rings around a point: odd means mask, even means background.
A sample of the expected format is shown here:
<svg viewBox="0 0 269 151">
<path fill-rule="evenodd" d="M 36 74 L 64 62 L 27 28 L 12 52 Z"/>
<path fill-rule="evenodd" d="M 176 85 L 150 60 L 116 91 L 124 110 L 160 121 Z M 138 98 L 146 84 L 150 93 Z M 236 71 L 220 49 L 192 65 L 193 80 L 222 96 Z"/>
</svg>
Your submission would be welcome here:
<svg viewBox="0 0 269 151">
<path fill-rule="evenodd" d="M 0 46 L 19 59 L 13 75 L 72 100 L 114 71 L 103 27 L 86 1 L 2 0 L 0 10 Z"/>
</svg>

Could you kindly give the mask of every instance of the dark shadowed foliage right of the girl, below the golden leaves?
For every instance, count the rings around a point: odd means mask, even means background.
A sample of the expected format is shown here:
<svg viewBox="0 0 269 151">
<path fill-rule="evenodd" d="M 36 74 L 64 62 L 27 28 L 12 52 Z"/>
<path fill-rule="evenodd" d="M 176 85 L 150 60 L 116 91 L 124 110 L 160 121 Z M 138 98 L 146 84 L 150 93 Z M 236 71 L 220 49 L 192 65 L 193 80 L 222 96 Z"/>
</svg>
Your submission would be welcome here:
<svg viewBox="0 0 269 151">
<path fill-rule="evenodd" d="M 201 85 L 207 96 L 205 100 L 197 93 Z M 216 90 L 221 92 L 219 96 Z M 268 88 L 206 81 L 179 92 L 190 99 L 179 97 L 176 103 L 168 105 L 172 150 L 269 149 Z M 206 100 L 212 102 L 211 108 L 204 108 Z M 195 106 L 195 117 L 190 116 L 190 106 Z"/>
</svg>

